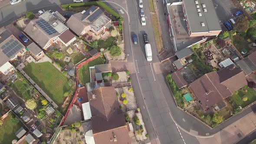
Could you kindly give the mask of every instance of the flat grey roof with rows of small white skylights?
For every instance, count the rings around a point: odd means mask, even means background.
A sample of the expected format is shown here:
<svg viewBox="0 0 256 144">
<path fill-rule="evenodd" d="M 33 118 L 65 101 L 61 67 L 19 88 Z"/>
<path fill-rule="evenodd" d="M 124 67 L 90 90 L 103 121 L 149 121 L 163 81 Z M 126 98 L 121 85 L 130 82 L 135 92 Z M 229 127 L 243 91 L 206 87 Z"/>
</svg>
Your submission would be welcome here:
<svg viewBox="0 0 256 144">
<path fill-rule="evenodd" d="M 197 2 L 198 4 L 195 3 L 195 0 L 183 0 L 191 33 L 221 30 L 219 18 L 213 7 L 213 1 L 197 0 Z M 203 4 L 205 8 L 203 8 Z M 197 8 L 196 5 L 198 5 L 199 8 Z M 200 9 L 200 12 L 198 12 L 197 9 Z M 204 9 L 206 9 L 207 12 L 204 12 Z M 201 13 L 202 16 L 199 16 L 198 13 Z M 202 26 L 201 23 L 204 23 L 205 26 Z"/>
</svg>

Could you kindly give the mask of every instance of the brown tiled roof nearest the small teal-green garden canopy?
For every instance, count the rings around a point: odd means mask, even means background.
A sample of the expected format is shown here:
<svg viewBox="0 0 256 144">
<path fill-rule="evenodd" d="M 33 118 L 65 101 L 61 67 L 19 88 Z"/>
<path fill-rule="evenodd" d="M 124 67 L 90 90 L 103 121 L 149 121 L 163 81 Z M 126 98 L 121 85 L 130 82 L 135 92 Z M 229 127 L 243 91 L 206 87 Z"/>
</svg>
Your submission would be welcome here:
<svg viewBox="0 0 256 144">
<path fill-rule="evenodd" d="M 194 97 L 200 101 L 203 109 L 210 108 L 223 99 L 207 75 L 203 75 L 190 83 L 189 88 L 193 92 Z"/>
</svg>

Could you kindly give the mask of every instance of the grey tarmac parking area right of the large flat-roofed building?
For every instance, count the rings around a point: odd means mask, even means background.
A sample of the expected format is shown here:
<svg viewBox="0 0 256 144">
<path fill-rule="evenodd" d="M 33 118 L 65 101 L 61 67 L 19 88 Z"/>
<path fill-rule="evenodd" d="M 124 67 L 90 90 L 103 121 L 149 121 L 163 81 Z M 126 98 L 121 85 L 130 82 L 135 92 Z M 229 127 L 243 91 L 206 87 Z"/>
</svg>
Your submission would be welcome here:
<svg viewBox="0 0 256 144">
<path fill-rule="evenodd" d="M 233 0 L 213 0 L 213 6 L 215 7 L 217 16 L 220 20 L 220 26 L 223 31 L 227 30 L 223 25 L 225 21 L 228 21 L 229 19 L 236 20 L 238 17 L 242 16 L 233 16 L 233 13 L 239 10 L 233 3 Z"/>
</svg>

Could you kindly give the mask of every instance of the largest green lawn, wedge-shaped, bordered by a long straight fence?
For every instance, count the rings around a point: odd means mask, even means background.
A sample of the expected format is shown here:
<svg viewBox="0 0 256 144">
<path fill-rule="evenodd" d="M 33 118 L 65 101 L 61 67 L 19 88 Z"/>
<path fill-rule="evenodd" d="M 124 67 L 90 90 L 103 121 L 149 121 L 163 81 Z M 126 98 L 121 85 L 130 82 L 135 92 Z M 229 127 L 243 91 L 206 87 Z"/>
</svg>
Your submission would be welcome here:
<svg viewBox="0 0 256 144">
<path fill-rule="evenodd" d="M 31 62 L 23 69 L 53 101 L 61 106 L 63 94 L 71 89 L 68 79 L 50 62 Z"/>
</svg>

